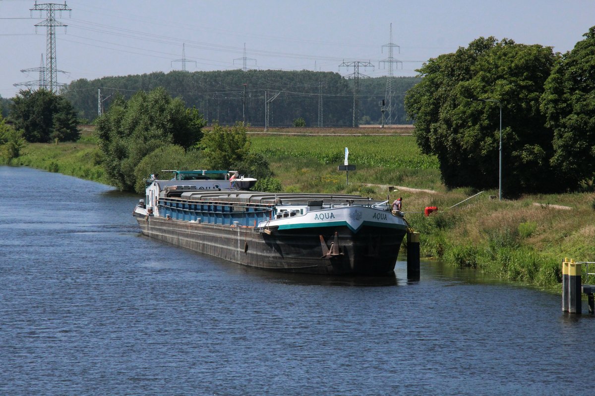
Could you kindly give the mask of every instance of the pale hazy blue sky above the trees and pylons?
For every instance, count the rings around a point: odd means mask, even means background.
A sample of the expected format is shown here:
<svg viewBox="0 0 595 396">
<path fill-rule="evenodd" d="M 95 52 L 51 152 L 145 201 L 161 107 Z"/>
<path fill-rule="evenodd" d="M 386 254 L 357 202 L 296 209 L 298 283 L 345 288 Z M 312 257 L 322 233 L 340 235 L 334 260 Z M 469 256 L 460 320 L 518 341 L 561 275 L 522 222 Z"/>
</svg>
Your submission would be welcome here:
<svg viewBox="0 0 595 396">
<path fill-rule="evenodd" d="M 63 0 L 37 4 L 64 5 Z M 243 68 L 317 70 L 368 77 L 416 75 L 430 58 L 478 37 L 566 52 L 595 25 L 593 0 L 67 0 L 56 12 L 58 83 L 80 78 Z M 46 11 L 0 0 L 0 96 L 39 80 Z M 390 36 L 392 28 L 392 40 Z M 393 46 L 393 61 L 389 46 Z M 384 47 L 383 47 L 384 46 Z M 398 47 L 397 47 L 398 46 Z M 246 52 L 244 53 L 244 48 Z M 183 56 L 183 50 L 185 56 Z M 368 66 L 363 66 L 368 65 Z"/>
</svg>

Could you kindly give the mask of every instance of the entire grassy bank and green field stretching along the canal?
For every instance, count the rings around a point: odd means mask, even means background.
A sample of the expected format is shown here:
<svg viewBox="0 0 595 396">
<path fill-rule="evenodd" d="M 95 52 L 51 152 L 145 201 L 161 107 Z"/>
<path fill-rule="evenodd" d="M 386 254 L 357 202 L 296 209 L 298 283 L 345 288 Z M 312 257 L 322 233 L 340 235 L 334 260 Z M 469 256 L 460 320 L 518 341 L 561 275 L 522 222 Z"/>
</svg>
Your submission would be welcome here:
<svg viewBox="0 0 595 396">
<path fill-rule="evenodd" d="M 456 205 L 476 191 L 447 191 L 436 159 L 422 156 L 409 136 L 254 135 L 251 140 L 253 150 L 269 159 L 284 191 L 403 197 L 406 218 L 422 234 L 424 256 L 546 288 L 557 287 L 565 256 L 595 261 L 593 193 L 527 195 L 500 202 L 493 198 L 494 190 Z M 357 167 L 349 173 L 349 185 L 345 172 L 337 170 L 345 147 L 349 163 Z M 29 144 L 12 163 L 105 183 L 97 159 L 98 148 L 87 137 L 68 144 Z M 440 211 L 425 217 L 421 212 L 427 206 Z"/>
</svg>

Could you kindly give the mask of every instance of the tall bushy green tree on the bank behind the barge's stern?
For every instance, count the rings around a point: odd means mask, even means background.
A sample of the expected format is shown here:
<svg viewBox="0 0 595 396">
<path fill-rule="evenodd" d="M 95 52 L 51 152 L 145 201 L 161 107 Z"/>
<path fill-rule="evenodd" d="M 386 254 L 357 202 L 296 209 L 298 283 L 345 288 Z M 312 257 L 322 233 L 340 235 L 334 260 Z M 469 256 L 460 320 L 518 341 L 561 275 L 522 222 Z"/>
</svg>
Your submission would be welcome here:
<svg viewBox="0 0 595 396">
<path fill-rule="evenodd" d="M 123 191 L 134 191 L 135 169 L 145 156 L 167 144 L 192 147 L 201 139 L 204 125 L 198 110 L 187 109 L 164 88 L 141 91 L 128 101 L 115 97 L 96 129 L 109 181 Z"/>
</svg>

